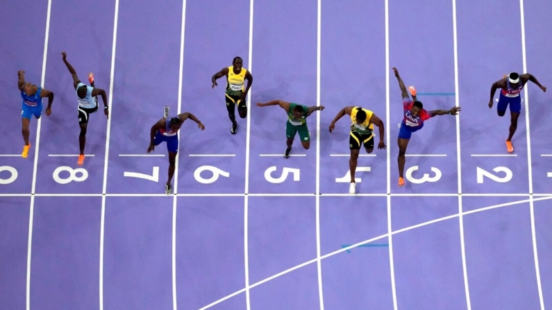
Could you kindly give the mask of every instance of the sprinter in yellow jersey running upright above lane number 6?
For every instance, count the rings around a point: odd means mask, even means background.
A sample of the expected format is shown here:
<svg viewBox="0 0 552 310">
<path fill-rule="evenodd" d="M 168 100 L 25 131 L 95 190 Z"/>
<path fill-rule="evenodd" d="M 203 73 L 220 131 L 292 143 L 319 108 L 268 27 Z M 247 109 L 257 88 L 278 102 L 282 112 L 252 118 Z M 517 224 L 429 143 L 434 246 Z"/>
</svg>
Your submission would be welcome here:
<svg viewBox="0 0 552 310">
<path fill-rule="evenodd" d="M 226 110 L 228 110 L 228 117 L 232 121 L 232 128 L 230 132 L 235 135 L 237 132 L 237 122 L 235 117 L 235 105 L 237 105 L 237 112 L 242 119 L 247 117 L 247 103 L 246 96 L 249 92 L 249 87 L 253 84 L 253 76 L 247 69 L 242 68 L 243 60 L 240 57 L 234 58 L 232 61 L 232 67 L 222 68 L 211 78 L 212 87 L 217 86 L 217 78 L 226 76 Z M 245 86 L 245 80 L 247 80 L 247 87 Z"/>
</svg>

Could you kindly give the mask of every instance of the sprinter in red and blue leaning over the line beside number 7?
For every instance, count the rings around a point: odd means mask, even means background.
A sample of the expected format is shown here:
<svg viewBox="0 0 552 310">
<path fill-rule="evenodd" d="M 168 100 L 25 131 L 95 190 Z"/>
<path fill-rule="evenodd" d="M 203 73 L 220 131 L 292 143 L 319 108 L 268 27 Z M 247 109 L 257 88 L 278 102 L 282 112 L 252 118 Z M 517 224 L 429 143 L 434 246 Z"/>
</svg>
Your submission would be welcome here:
<svg viewBox="0 0 552 310">
<path fill-rule="evenodd" d="M 174 175 L 176 154 L 178 153 L 178 130 L 180 130 L 182 123 L 184 123 L 186 119 L 192 119 L 192 121 L 197 123 L 199 129 L 205 129 L 201 121 L 194 117 L 192 113 L 188 112 L 178 114 L 176 117 L 160 119 L 151 127 L 147 153 L 155 150 L 156 146 L 162 142 L 167 142 L 167 150 L 169 151 L 169 179 L 165 184 L 165 193 L 167 195 L 172 193 L 171 180 Z"/>
</svg>

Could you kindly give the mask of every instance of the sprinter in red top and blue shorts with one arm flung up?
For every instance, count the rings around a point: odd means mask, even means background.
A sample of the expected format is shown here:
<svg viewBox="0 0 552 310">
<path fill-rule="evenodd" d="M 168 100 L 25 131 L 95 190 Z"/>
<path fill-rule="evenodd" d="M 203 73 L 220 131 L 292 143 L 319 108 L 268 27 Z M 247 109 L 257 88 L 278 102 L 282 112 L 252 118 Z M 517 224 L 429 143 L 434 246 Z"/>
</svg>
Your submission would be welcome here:
<svg viewBox="0 0 552 310">
<path fill-rule="evenodd" d="M 424 127 L 424 121 L 435 117 L 437 115 L 456 115 L 460 111 L 460 107 L 453 107 L 451 110 L 424 110 L 424 105 L 417 101 L 416 98 L 416 89 L 413 86 L 408 87 L 410 89 L 410 94 L 412 94 L 412 100 L 406 92 L 406 87 L 399 76 L 399 71 L 396 68 L 393 68 L 396 79 L 399 80 L 399 87 L 401 87 L 401 96 L 403 97 L 403 121 L 401 122 L 399 130 L 399 187 L 404 185 L 404 164 L 405 164 L 405 153 L 406 147 L 408 146 L 408 141 L 410 141 L 410 136 L 412 132 L 420 130 Z"/>
</svg>

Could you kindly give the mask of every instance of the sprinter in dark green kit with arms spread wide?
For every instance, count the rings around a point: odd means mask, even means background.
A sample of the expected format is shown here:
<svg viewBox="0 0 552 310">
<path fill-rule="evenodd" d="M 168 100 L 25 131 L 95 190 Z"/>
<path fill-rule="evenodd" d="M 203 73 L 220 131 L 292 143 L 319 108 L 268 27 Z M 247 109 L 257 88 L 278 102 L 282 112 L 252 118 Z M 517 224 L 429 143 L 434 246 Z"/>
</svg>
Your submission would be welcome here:
<svg viewBox="0 0 552 310">
<path fill-rule="evenodd" d="M 297 103 L 289 103 L 281 100 L 257 103 L 258 107 L 266 107 L 267 105 L 280 105 L 287 113 L 287 121 L 285 122 L 285 135 L 287 137 L 285 143 L 287 144 L 287 148 L 284 153 L 284 158 L 290 157 L 293 139 L 297 132 L 299 132 L 303 148 L 308 150 L 308 148 L 310 148 L 310 132 L 307 127 L 307 117 L 309 117 L 312 112 L 324 110 L 324 106 L 307 107 L 306 105 L 299 105 Z"/>
</svg>

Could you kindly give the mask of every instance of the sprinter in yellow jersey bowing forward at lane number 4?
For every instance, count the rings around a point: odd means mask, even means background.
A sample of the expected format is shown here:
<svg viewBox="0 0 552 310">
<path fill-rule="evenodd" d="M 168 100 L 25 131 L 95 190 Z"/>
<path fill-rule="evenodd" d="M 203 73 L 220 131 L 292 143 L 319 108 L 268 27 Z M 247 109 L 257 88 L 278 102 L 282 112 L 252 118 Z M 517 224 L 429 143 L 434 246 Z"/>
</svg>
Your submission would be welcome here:
<svg viewBox="0 0 552 310">
<path fill-rule="evenodd" d="M 351 170 L 351 185 L 349 193 L 355 193 L 355 171 L 357 166 L 360 146 L 364 144 L 366 153 L 372 153 L 374 150 L 374 125 L 378 126 L 380 132 L 380 141 L 378 148 L 385 148 L 383 136 L 385 128 L 383 121 L 376 117 L 374 112 L 363 109 L 362 107 L 344 107 L 333 119 L 330 124 L 330 132 L 335 129 L 335 122 L 339 121 L 345 114 L 351 116 L 351 133 L 349 134 L 349 148 L 351 149 L 351 158 L 349 159 L 349 169 Z"/>
</svg>

